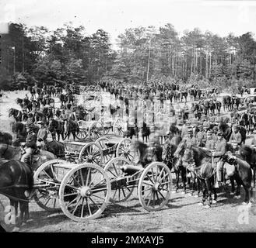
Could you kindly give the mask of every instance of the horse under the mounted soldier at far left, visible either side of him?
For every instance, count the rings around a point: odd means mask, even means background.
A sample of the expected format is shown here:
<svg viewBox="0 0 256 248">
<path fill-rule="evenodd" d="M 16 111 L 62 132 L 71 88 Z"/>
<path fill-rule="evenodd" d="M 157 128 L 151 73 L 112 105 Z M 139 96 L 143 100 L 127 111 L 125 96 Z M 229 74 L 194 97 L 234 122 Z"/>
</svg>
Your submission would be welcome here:
<svg viewBox="0 0 256 248">
<path fill-rule="evenodd" d="M 0 158 L 2 160 L 19 160 L 21 157 L 21 151 L 19 147 L 9 146 L 6 144 L 0 144 Z M 48 160 L 54 160 L 56 156 L 46 150 L 40 150 L 37 154 L 33 155 L 33 164 L 31 168 L 36 171 L 40 164 Z"/>
</svg>

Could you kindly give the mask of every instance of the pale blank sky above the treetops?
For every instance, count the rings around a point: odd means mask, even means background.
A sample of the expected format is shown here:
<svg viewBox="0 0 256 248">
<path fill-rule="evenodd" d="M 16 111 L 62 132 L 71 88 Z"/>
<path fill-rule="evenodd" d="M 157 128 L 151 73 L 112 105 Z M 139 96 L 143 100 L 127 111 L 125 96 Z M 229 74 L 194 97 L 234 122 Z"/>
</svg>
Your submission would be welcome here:
<svg viewBox="0 0 256 248">
<path fill-rule="evenodd" d="M 0 22 L 27 26 L 82 25 L 86 33 L 104 29 L 115 43 L 124 29 L 164 26 L 170 22 L 180 35 L 198 27 L 226 36 L 256 33 L 256 1 L 243 0 L 0 0 Z"/>
</svg>

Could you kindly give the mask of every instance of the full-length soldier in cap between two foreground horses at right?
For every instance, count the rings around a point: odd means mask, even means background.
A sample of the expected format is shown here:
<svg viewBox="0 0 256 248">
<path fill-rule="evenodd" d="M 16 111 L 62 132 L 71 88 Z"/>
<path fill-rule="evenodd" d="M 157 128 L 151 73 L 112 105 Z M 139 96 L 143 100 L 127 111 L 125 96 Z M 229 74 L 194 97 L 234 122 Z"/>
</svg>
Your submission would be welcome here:
<svg viewBox="0 0 256 248">
<path fill-rule="evenodd" d="M 216 163 L 216 174 L 218 183 L 223 182 L 223 165 L 224 162 L 221 160 L 221 157 L 226 153 L 226 140 L 223 136 L 222 131 L 217 133 L 218 141 L 216 143 L 216 151 L 212 153 L 214 157 L 214 162 Z M 217 188 L 217 187 L 216 187 Z"/>
</svg>

